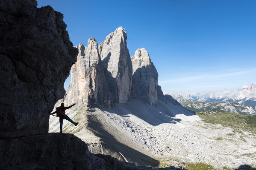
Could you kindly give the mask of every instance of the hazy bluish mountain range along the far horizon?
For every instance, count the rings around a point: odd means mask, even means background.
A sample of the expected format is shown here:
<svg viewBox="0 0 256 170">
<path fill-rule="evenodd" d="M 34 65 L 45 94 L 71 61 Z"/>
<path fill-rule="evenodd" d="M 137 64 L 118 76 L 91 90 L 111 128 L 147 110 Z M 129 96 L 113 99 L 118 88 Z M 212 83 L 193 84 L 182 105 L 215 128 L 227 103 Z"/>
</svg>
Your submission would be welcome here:
<svg viewBox="0 0 256 170">
<path fill-rule="evenodd" d="M 244 85 L 241 90 L 234 92 L 224 91 L 218 93 L 197 93 L 197 92 L 185 92 L 185 93 L 166 93 L 170 94 L 178 102 L 199 101 L 199 102 L 237 102 L 242 105 L 252 106 L 256 108 L 256 85 L 247 84 Z"/>
</svg>

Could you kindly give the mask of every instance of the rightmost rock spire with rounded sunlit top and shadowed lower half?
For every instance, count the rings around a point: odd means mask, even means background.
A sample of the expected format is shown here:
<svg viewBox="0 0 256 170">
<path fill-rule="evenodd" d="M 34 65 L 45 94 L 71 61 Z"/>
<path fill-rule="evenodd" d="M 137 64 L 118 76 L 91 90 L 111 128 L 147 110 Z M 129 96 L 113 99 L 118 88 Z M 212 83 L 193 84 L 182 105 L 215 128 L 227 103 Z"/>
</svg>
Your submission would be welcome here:
<svg viewBox="0 0 256 170">
<path fill-rule="evenodd" d="M 158 74 L 145 48 L 135 51 L 132 59 L 132 84 L 136 97 L 151 105 L 157 101 Z"/>
</svg>

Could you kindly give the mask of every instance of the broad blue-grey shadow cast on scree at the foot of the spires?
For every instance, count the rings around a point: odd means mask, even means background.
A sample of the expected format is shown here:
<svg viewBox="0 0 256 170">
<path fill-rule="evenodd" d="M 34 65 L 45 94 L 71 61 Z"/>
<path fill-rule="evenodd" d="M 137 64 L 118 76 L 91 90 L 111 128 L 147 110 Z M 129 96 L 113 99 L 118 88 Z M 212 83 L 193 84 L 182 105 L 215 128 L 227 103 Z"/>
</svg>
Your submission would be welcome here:
<svg viewBox="0 0 256 170">
<path fill-rule="evenodd" d="M 176 124 L 182 120 L 173 118 L 177 114 L 183 114 L 185 116 L 194 115 L 193 112 L 188 111 L 181 105 L 167 105 L 162 101 L 158 101 L 156 105 L 153 106 L 138 99 L 132 99 L 124 105 L 115 105 L 113 108 L 100 107 L 100 109 L 123 117 L 129 117 L 129 115 L 132 114 L 153 126 L 162 123 Z"/>
</svg>

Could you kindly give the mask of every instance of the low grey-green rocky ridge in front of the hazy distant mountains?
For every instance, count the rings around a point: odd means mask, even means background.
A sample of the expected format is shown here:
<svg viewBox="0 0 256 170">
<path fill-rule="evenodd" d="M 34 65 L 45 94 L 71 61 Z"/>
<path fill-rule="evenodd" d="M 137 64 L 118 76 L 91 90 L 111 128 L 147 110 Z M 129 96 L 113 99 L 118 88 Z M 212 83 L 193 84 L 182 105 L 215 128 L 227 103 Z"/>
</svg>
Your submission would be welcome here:
<svg viewBox="0 0 256 170">
<path fill-rule="evenodd" d="M 188 101 L 182 102 L 181 105 L 191 111 L 202 113 L 220 113 L 232 112 L 239 114 L 256 115 L 256 110 L 252 106 L 241 105 L 236 102 L 199 102 Z"/>
</svg>

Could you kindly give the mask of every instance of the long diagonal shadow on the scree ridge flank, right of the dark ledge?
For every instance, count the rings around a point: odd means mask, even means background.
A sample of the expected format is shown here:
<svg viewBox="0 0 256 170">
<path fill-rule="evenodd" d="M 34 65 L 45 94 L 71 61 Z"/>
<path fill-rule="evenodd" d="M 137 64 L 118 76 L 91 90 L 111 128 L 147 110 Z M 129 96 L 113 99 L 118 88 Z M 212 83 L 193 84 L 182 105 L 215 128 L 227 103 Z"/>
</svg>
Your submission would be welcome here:
<svg viewBox="0 0 256 170">
<path fill-rule="evenodd" d="M 88 115 L 88 116 L 95 116 L 95 115 Z M 121 142 L 118 142 L 118 137 L 112 136 L 109 132 L 107 132 L 100 122 L 97 119 L 94 119 L 94 117 L 89 118 L 88 127 L 90 127 L 91 131 L 93 131 L 95 136 L 98 136 L 101 138 L 101 141 L 108 141 L 108 143 L 102 142 L 102 154 L 110 154 L 110 153 L 117 153 L 115 157 L 121 158 L 121 160 L 133 162 L 136 165 L 140 166 L 153 166 L 158 167 L 159 161 L 156 159 L 153 159 L 144 153 L 139 152 L 138 150 L 135 150 L 125 144 L 122 144 Z M 108 126 L 108 125 L 105 125 Z M 113 130 L 113 129 L 111 129 Z M 118 133 L 113 131 L 113 133 Z M 122 139 L 119 140 L 125 140 L 125 136 Z M 128 140 L 128 139 L 127 139 Z M 134 146 L 136 147 L 136 146 Z M 103 149 L 104 148 L 104 149 Z"/>
</svg>

